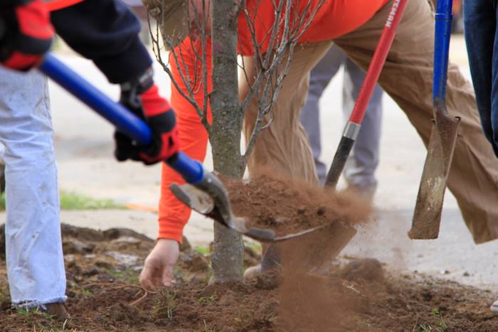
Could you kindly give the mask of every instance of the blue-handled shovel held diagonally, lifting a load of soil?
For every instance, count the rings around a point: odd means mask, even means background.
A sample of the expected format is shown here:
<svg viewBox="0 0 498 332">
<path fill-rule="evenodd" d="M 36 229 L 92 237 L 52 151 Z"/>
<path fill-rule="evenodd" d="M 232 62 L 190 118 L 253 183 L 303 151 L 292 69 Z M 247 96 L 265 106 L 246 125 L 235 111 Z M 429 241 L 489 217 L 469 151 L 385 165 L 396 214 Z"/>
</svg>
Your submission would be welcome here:
<svg viewBox="0 0 498 332">
<path fill-rule="evenodd" d="M 148 145 L 152 142 L 151 130 L 142 119 L 97 90 L 90 82 L 61 63 L 55 56 L 50 53 L 46 55 L 38 66 L 38 70 L 102 115 L 137 144 Z M 196 188 L 195 191 L 184 191 L 176 185 L 171 187 L 175 195 L 186 205 L 195 206 L 203 210 L 203 213 L 214 212 L 220 215 L 221 220 L 216 219 L 218 222 L 255 240 L 263 242 L 275 240 L 275 233 L 272 230 L 246 227 L 244 218 L 233 215 L 226 188 L 213 173 L 204 170 L 199 161 L 179 152 L 165 162 L 180 173 L 184 180 L 192 186 L 191 188 Z"/>
</svg>

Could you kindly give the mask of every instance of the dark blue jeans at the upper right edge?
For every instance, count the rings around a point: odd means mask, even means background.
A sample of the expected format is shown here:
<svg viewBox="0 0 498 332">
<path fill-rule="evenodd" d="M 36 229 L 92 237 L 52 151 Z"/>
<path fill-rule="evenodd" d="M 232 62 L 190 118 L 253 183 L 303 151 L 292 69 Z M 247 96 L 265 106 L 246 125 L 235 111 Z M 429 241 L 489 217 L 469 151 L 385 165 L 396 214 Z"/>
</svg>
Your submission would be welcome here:
<svg viewBox="0 0 498 332">
<path fill-rule="evenodd" d="M 477 109 L 498 157 L 497 0 L 465 0 L 463 21 Z"/>
</svg>

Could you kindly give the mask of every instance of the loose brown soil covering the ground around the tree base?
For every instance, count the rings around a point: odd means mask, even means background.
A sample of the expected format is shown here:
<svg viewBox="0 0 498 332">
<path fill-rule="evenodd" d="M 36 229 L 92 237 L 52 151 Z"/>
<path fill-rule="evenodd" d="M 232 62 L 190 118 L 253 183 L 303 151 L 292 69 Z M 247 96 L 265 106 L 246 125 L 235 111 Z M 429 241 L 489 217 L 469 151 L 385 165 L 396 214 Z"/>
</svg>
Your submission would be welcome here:
<svg viewBox="0 0 498 332">
<path fill-rule="evenodd" d="M 137 276 L 153 240 L 63 225 L 63 243 L 73 318 L 11 309 L 1 257 L 1 331 L 498 331 L 489 291 L 399 274 L 375 259 L 345 260 L 319 275 L 284 269 L 274 284 L 260 277 L 208 285 L 209 258 L 185 241 L 174 287 L 146 291 Z M 246 252 L 254 264 L 257 255 Z"/>
</svg>

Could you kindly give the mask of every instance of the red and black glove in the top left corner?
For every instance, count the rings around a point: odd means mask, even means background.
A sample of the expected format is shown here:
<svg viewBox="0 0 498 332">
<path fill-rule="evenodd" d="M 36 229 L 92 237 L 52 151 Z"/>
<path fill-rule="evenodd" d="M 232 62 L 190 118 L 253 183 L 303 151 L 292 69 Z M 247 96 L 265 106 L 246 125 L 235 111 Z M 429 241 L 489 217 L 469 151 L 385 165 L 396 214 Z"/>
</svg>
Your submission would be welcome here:
<svg viewBox="0 0 498 332">
<path fill-rule="evenodd" d="M 0 24 L 0 63 L 6 67 L 28 70 L 51 47 L 54 32 L 42 0 L 0 4 Z"/>
</svg>

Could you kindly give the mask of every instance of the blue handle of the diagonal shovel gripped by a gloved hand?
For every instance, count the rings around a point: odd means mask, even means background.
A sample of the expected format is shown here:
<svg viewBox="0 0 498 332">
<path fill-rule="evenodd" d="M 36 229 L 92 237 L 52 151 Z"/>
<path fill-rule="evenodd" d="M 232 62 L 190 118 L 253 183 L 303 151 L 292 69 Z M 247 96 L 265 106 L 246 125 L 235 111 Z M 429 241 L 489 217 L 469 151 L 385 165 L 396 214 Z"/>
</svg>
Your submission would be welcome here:
<svg viewBox="0 0 498 332">
<path fill-rule="evenodd" d="M 142 119 L 97 90 L 90 82 L 68 68 L 52 54 L 48 53 L 45 56 L 43 62 L 38 66 L 38 70 L 114 124 L 129 138 L 137 141 L 138 144 L 149 145 L 152 142 L 152 132 Z M 187 183 L 200 183 L 204 178 L 202 164 L 183 152 L 172 156 L 166 163 L 180 173 Z"/>
</svg>

